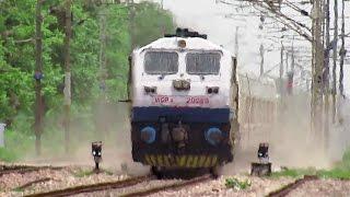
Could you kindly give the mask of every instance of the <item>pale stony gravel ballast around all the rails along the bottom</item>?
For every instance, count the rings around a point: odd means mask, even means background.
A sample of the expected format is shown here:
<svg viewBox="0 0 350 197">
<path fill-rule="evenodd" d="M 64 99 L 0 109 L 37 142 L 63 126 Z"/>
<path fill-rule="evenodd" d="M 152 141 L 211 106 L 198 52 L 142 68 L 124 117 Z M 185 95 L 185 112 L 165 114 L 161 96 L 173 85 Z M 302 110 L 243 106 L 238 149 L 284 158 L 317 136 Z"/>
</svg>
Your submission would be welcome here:
<svg viewBox="0 0 350 197">
<path fill-rule="evenodd" d="M 23 196 L 34 193 L 49 192 L 54 189 L 62 189 L 72 186 L 121 181 L 128 178 L 127 175 L 121 175 L 118 172 L 104 172 L 100 174 L 91 174 L 91 166 L 65 166 L 62 170 L 44 169 L 34 172 L 11 173 L 4 174 L 0 177 L 0 196 Z M 248 179 L 252 186 L 236 190 L 233 188 L 226 188 L 225 179 L 229 177 L 236 177 L 240 181 Z M 26 183 L 49 178 L 43 183 L 34 184 L 26 187 L 23 190 L 16 189 Z M 266 196 L 270 192 L 281 188 L 294 182 L 294 178 L 279 177 L 255 177 L 248 175 L 222 175 L 218 179 L 207 181 L 197 185 L 190 185 L 183 187 L 182 189 L 171 189 L 152 195 L 153 197 L 160 196 L 252 196 L 260 197 Z M 96 192 L 92 194 L 81 194 L 77 196 L 118 196 L 130 192 L 140 189 L 147 189 L 160 185 L 173 184 L 178 179 L 162 179 L 144 182 L 135 186 L 113 189 L 107 192 Z M 350 181 L 337 181 L 337 179 L 316 179 L 304 183 L 302 186 L 292 190 L 289 196 L 349 196 L 350 197 Z"/>
</svg>

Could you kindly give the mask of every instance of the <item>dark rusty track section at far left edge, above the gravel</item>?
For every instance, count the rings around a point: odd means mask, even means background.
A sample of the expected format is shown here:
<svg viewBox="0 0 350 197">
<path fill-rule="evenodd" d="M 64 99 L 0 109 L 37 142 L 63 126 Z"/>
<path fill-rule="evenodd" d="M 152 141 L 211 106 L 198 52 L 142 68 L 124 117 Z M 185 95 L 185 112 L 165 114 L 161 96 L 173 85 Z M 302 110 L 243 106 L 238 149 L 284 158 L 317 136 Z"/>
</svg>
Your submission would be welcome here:
<svg viewBox="0 0 350 197">
<path fill-rule="evenodd" d="M 24 174 L 33 171 L 39 170 L 62 170 L 63 166 L 34 166 L 34 165 L 0 165 L 0 177 L 10 174 L 10 173 L 19 173 Z"/>
</svg>

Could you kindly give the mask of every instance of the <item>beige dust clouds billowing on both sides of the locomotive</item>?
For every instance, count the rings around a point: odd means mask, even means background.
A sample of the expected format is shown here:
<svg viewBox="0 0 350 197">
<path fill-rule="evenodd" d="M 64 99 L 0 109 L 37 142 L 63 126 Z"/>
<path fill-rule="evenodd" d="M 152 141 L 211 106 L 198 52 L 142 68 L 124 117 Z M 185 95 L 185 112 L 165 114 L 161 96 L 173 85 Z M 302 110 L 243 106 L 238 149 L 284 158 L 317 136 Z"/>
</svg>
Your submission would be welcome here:
<svg viewBox="0 0 350 197">
<path fill-rule="evenodd" d="M 323 131 L 311 132 L 310 94 L 295 92 L 283 99 L 283 104 L 277 107 L 277 116 L 270 129 L 260 126 L 244 130 L 240 143 L 235 147 L 234 162 L 223 167 L 224 174 L 249 172 L 250 162 L 257 161 L 259 142 L 269 143 L 269 155 L 272 170 L 287 167 L 316 167 L 327 169 L 341 160 L 350 144 L 350 102 L 338 97 L 339 111 L 336 123 L 329 124 L 328 140 L 323 140 Z M 341 106 L 341 107 L 340 107 Z M 240 107 L 241 111 L 244 107 Z M 23 159 L 26 163 L 51 165 L 94 166 L 91 154 L 91 142 L 103 141 L 102 167 L 120 172 L 121 165 L 127 164 L 128 172 L 145 174 L 149 167 L 136 163 L 131 158 L 131 138 L 129 124 L 129 106 L 125 103 L 96 106 L 92 123 L 74 119 L 71 123 L 71 150 L 65 153 L 63 138 L 47 137 L 50 146 L 43 147 L 43 155 Z M 261 112 L 260 116 L 266 113 Z M 59 120 L 56 120 L 59 121 Z M 91 129 L 93 128 L 93 131 Z M 88 130 L 90 129 L 90 131 Z M 61 129 L 60 132 L 63 132 Z M 328 144 L 324 143 L 327 141 Z M 325 147 L 328 146 L 328 149 Z M 59 150 L 49 147 L 59 148 Z"/>
</svg>

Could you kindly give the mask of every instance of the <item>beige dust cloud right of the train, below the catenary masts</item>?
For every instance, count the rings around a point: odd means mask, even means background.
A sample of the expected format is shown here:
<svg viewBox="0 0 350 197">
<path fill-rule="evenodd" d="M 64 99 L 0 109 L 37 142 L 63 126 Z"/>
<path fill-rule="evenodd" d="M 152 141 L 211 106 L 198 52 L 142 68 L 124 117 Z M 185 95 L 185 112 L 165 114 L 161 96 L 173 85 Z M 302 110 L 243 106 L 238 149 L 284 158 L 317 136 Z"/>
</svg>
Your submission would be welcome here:
<svg viewBox="0 0 350 197">
<path fill-rule="evenodd" d="M 281 167 L 330 169 L 341 161 L 350 146 L 350 101 L 338 97 L 336 121 L 329 113 L 329 132 L 311 131 L 311 95 L 299 92 L 283 99 L 279 104 L 277 118 L 270 130 L 258 127 L 244 130 L 236 146 L 232 164 L 223 169 L 224 174 L 248 173 L 250 162 L 257 162 L 259 142 L 269 143 L 269 157 L 272 171 Z M 242 107 L 241 107 L 242 109 Z M 261 116 L 264 116 L 264 112 Z M 320 124 L 320 123 L 318 123 Z"/>
</svg>

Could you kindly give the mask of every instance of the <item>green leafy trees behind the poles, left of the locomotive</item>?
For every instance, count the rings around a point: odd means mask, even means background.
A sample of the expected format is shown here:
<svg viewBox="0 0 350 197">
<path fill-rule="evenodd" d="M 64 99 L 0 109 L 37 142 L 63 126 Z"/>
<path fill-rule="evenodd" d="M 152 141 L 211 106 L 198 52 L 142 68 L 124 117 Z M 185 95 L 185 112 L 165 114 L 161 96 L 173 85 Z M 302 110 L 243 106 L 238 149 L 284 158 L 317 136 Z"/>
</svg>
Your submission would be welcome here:
<svg viewBox="0 0 350 197">
<path fill-rule="evenodd" d="M 45 102 L 43 147 L 62 152 L 62 86 L 65 77 L 63 0 L 43 1 L 43 95 Z M 95 104 L 126 99 L 128 56 L 133 46 L 145 45 L 172 32 L 172 15 L 156 4 L 101 5 L 95 1 L 72 1 L 72 143 L 94 139 Z M 37 0 L 0 1 L 0 121 L 8 124 L 7 149 L 0 157 L 13 160 L 34 148 L 35 103 L 35 9 Z M 135 9 L 135 19 L 129 20 Z M 101 12 L 106 14 L 106 70 L 100 68 Z M 131 28 L 130 28 L 131 27 Z M 131 34 L 132 32 L 132 34 Z M 106 91 L 100 89 L 106 74 Z M 79 129 L 74 128 L 79 125 Z M 81 132 L 83 130 L 84 132 Z M 55 142 L 55 144 L 52 143 Z M 21 149 L 21 151 L 20 151 Z M 10 151 L 11 150 L 11 151 Z M 7 157 L 19 155 L 19 157 Z"/>
</svg>

